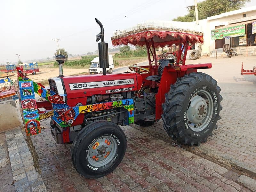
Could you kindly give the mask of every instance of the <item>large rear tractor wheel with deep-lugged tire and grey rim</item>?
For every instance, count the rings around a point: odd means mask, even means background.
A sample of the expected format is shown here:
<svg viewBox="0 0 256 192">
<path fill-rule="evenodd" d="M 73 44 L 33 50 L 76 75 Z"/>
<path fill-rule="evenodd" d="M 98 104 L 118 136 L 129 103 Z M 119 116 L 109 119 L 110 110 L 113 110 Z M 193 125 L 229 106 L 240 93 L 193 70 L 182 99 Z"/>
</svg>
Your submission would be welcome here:
<svg viewBox="0 0 256 192">
<path fill-rule="evenodd" d="M 221 100 L 220 87 L 211 76 L 193 72 L 179 78 L 165 94 L 164 129 L 180 143 L 199 146 L 217 128 Z"/>
</svg>

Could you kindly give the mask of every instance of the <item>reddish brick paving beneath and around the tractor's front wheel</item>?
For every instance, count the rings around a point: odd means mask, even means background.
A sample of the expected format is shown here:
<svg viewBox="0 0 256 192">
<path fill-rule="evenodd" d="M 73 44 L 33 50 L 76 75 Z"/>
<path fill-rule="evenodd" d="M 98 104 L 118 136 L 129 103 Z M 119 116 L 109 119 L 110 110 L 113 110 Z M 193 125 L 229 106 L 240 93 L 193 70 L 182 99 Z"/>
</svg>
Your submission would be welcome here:
<svg viewBox="0 0 256 192">
<path fill-rule="evenodd" d="M 43 123 L 47 126 L 49 121 Z M 71 164 L 71 144 L 57 145 L 50 130 L 31 137 L 48 191 L 250 191 L 235 172 L 126 126 L 127 151 L 106 177 L 80 176 Z"/>
</svg>

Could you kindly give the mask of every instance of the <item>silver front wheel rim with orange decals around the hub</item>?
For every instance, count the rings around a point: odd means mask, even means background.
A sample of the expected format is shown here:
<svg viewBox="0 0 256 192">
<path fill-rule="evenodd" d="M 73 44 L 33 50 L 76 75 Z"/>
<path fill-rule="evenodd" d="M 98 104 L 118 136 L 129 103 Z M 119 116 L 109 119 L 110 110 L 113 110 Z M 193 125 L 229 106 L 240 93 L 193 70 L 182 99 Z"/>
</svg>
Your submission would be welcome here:
<svg viewBox="0 0 256 192">
<path fill-rule="evenodd" d="M 116 152 L 116 140 L 113 137 L 105 135 L 92 143 L 87 153 L 87 160 L 94 167 L 102 167 L 111 163 Z"/>
</svg>

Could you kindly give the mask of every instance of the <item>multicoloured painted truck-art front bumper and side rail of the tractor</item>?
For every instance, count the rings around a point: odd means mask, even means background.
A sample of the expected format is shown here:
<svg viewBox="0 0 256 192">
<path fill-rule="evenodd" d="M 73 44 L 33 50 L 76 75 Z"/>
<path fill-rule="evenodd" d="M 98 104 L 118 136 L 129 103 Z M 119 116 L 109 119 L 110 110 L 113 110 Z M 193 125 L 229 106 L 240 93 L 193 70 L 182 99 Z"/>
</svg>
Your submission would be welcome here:
<svg viewBox="0 0 256 192">
<path fill-rule="evenodd" d="M 22 116 L 24 119 L 27 135 L 35 135 L 41 132 L 39 121 L 48 118 L 58 123 L 61 127 L 69 127 L 80 113 L 99 111 L 117 107 L 124 107 L 128 113 L 128 124 L 134 122 L 133 100 L 124 99 L 91 105 L 69 107 L 62 99 L 62 96 L 54 91 L 47 91 L 43 85 L 37 84 L 23 74 L 22 66 L 17 67 Z M 35 100 L 35 93 L 52 104 L 53 110 L 47 110 L 38 114 Z M 35 131 L 36 130 L 36 131 Z"/>
</svg>

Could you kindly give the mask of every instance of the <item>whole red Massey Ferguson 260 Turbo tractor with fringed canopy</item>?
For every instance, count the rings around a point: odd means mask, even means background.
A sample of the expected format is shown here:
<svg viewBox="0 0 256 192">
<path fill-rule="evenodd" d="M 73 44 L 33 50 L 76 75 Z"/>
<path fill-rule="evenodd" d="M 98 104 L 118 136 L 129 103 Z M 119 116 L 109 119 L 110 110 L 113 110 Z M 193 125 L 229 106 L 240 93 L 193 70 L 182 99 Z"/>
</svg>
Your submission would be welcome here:
<svg viewBox="0 0 256 192">
<path fill-rule="evenodd" d="M 197 72 L 211 68 L 211 63 L 185 65 L 189 42 L 203 43 L 203 33 L 168 27 L 170 22 L 144 23 L 115 32 L 113 46 L 146 45 L 148 65 L 106 74 L 108 44 L 102 24 L 96 22 L 101 29 L 96 42 L 101 39 L 103 74 L 63 76 L 65 56 L 57 55 L 60 76 L 50 78 L 50 90 L 46 90 L 17 67 L 27 135 L 40 133 L 40 121 L 51 118 L 52 136 L 58 144 L 72 142 L 72 163 L 86 178 L 107 175 L 122 161 L 126 137 L 119 125 L 149 126 L 162 120 L 173 140 L 189 146 L 206 142 L 220 118 L 220 87 L 211 76 Z M 172 44 L 179 45 L 176 62 L 165 59 L 158 64 L 155 48 Z M 45 101 L 36 102 L 34 92 Z"/>
</svg>

